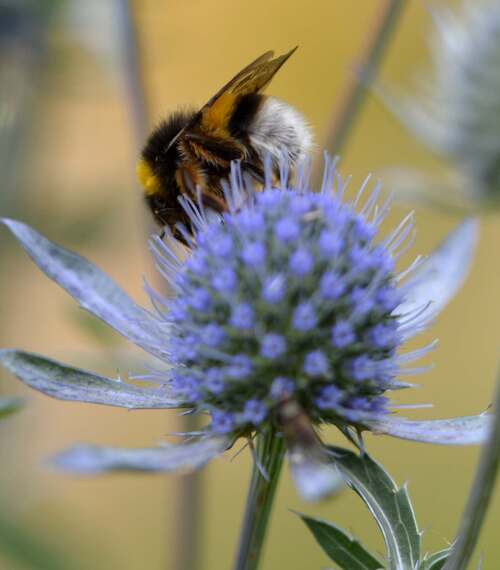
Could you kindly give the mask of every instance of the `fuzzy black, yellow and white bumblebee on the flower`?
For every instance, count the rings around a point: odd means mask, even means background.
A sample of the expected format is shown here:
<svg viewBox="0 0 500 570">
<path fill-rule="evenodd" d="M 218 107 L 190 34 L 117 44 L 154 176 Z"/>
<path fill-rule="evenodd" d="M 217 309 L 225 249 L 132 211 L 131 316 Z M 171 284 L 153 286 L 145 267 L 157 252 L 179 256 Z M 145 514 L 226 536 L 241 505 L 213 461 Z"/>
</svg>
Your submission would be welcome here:
<svg viewBox="0 0 500 570">
<path fill-rule="evenodd" d="M 156 222 L 184 241 L 177 225 L 193 228 L 179 204 L 180 196 L 199 192 L 204 206 L 226 209 L 222 181 L 231 162 L 258 183 L 269 155 L 278 172 L 284 156 L 293 167 L 312 146 L 302 115 L 283 101 L 263 95 L 271 79 L 295 52 L 273 58 L 268 51 L 247 65 L 199 111 L 177 111 L 161 122 L 147 140 L 137 166 L 146 202 Z"/>
</svg>

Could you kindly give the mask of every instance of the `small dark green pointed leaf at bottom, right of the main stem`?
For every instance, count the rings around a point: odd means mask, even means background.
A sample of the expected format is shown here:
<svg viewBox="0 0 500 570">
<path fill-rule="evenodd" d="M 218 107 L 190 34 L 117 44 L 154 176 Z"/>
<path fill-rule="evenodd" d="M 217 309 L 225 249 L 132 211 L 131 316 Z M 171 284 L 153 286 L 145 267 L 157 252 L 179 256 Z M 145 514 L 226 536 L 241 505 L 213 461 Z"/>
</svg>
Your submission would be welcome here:
<svg viewBox="0 0 500 570">
<path fill-rule="evenodd" d="M 297 513 L 330 559 L 343 570 L 380 570 L 384 565 L 355 538 L 334 524 Z"/>
</svg>

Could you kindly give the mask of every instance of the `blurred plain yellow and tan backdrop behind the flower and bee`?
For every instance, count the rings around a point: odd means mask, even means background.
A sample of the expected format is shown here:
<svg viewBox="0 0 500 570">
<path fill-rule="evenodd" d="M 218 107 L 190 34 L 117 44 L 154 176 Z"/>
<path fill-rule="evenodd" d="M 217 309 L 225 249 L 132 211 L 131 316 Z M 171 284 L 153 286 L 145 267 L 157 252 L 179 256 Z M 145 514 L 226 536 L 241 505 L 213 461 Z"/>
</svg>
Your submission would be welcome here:
<svg viewBox="0 0 500 570">
<path fill-rule="evenodd" d="M 131 295 L 147 303 L 143 275 L 157 281 L 147 251 L 151 230 L 136 186 L 134 138 L 126 81 L 116 52 L 119 25 L 111 0 L 61 6 L 40 64 L 9 206 L 48 237 L 77 249 Z M 79 5 L 79 6 L 78 6 Z M 343 86 L 382 0 L 137 0 L 135 24 L 152 124 L 179 105 L 201 105 L 234 73 L 268 49 L 300 49 L 268 89 L 311 122 L 321 150 Z M 382 77 L 400 82 L 426 66 L 432 22 L 424 4 L 408 2 Z M 342 157 L 341 171 L 357 185 L 369 172 L 440 165 L 372 97 Z M 395 208 L 393 221 L 409 207 Z M 458 218 L 417 211 L 414 252 L 428 253 Z M 475 414 L 490 403 L 499 356 L 500 220 L 482 220 L 481 241 L 465 288 L 419 344 L 437 337 L 435 368 L 401 403 L 433 402 L 412 418 Z M 116 375 L 142 354 L 91 321 L 49 282 L 12 238 L 0 237 L 0 345 L 19 347 Z M 0 424 L 0 510 L 61 548 L 68 569 L 174 570 L 177 479 L 122 475 L 74 478 L 44 464 L 75 442 L 149 446 L 176 428 L 175 412 L 127 412 L 58 402 L 28 391 L 0 372 L 2 395 L 26 394 L 27 406 Z M 340 441 L 333 432 L 332 441 Z M 367 436 L 372 455 L 399 483 L 409 482 L 424 545 L 437 549 L 454 536 L 476 467 L 478 449 L 442 448 Z M 204 471 L 201 512 L 205 570 L 230 568 L 250 473 L 248 453 L 216 460 Z M 335 521 L 373 549 L 383 545 L 360 500 L 345 492 L 321 506 L 297 497 L 282 479 L 263 570 L 331 566 L 290 509 Z M 478 553 L 484 569 L 500 568 L 500 497 L 491 505 Z M 0 568 L 23 568 L 2 557 Z"/>
</svg>

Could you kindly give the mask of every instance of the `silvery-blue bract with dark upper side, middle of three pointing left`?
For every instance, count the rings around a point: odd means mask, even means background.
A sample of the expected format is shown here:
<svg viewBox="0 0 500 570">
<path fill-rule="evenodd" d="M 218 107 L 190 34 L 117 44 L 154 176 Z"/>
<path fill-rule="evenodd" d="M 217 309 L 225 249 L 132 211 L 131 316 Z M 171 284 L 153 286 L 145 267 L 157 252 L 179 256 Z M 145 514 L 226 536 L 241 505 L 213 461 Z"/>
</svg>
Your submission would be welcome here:
<svg viewBox="0 0 500 570">
<path fill-rule="evenodd" d="M 31 388 L 59 400 L 128 409 L 178 408 L 183 405 L 164 387 L 139 388 L 31 352 L 0 350 L 0 365 Z"/>
</svg>

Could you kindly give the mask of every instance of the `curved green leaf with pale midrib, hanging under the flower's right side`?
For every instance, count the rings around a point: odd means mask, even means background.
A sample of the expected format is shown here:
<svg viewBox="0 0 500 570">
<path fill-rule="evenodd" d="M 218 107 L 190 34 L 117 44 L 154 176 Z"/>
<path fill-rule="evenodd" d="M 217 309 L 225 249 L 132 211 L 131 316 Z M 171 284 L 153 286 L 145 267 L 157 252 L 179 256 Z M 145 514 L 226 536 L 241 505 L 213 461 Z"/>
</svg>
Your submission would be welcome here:
<svg viewBox="0 0 500 570">
<path fill-rule="evenodd" d="M 390 475 L 367 453 L 356 455 L 329 447 L 348 484 L 375 517 L 384 536 L 391 570 L 410 570 L 420 562 L 420 532 L 406 487 L 398 488 Z"/>
</svg>

